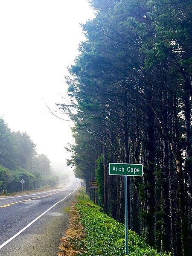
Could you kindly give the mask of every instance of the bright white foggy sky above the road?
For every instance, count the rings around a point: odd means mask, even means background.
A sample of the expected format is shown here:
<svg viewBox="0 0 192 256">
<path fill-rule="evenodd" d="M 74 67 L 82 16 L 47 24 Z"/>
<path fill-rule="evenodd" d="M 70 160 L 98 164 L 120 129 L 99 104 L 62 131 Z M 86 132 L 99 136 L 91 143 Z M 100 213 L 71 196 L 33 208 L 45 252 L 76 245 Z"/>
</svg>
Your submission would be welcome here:
<svg viewBox="0 0 192 256">
<path fill-rule="evenodd" d="M 55 169 L 67 168 L 73 124 L 46 104 L 58 111 L 55 103 L 67 100 L 64 76 L 84 40 L 79 23 L 92 18 L 87 0 L 0 0 L 0 116 Z"/>
</svg>

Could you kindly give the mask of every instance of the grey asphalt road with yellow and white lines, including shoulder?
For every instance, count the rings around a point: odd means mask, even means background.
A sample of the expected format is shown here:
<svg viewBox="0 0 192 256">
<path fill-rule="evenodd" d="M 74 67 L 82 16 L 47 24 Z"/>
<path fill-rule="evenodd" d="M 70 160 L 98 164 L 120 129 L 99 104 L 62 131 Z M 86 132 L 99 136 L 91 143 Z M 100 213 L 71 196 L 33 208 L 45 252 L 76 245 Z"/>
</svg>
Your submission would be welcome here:
<svg viewBox="0 0 192 256">
<path fill-rule="evenodd" d="M 0 256 L 54 256 L 79 180 L 64 188 L 0 198 Z"/>
</svg>

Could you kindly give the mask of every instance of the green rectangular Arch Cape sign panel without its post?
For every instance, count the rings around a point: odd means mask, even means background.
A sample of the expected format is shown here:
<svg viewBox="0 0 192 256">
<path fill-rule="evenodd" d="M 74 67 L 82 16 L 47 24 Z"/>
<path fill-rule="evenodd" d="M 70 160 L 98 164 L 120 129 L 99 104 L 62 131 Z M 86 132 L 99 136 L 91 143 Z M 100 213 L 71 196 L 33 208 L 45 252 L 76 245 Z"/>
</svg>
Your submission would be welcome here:
<svg viewBox="0 0 192 256">
<path fill-rule="evenodd" d="M 109 163 L 109 175 L 143 176 L 143 164 Z"/>
</svg>

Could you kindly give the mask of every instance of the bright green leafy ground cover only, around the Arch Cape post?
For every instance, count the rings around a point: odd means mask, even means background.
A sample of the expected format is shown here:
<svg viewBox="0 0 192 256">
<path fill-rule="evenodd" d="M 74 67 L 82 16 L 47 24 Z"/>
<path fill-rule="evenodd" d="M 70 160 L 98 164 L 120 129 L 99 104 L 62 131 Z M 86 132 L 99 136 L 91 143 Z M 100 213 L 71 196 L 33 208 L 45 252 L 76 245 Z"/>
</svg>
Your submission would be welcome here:
<svg viewBox="0 0 192 256">
<path fill-rule="evenodd" d="M 125 226 L 109 217 L 87 197 L 78 196 L 76 205 L 87 234 L 84 240 L 85 252 L 81 256 L 125 256 Z M 166 256 L 157 253 L 153 247 L 145 244 L 134 231 L 129 230 L 129 256 Z"/>
</svg>

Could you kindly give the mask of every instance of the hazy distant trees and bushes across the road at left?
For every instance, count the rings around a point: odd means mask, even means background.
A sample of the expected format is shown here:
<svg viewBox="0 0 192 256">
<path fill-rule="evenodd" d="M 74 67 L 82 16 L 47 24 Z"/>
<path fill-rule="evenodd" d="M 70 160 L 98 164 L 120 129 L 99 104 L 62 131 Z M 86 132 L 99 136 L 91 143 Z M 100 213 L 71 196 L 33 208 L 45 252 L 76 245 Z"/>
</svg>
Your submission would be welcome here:
<svg viewBox="0 0 192 256">
<path fill-rule="evenodd" d="M 58 176 L 51 172 L 50 161 L 45 154 L 37 154 L 36 145 L 26 132 L 11 131 L 0 118 L 0 195 L 22 189 L 47 189 L 58 184 Z"/>
</svg>

